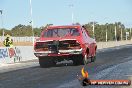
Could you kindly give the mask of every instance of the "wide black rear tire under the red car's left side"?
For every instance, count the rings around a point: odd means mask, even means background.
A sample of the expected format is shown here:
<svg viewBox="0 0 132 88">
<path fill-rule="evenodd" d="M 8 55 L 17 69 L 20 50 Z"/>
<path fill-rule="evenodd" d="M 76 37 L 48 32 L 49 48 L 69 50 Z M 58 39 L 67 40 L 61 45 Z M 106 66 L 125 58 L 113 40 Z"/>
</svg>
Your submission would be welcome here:
<svg viewBox="0 0 132 88">
<path fill-rule="evenodd" d="M 55 66 L 56 63 L 51 57 L 39 57 L 39 64 L 40 67 L 45 68 L 45 67 Z"/>
</svg>

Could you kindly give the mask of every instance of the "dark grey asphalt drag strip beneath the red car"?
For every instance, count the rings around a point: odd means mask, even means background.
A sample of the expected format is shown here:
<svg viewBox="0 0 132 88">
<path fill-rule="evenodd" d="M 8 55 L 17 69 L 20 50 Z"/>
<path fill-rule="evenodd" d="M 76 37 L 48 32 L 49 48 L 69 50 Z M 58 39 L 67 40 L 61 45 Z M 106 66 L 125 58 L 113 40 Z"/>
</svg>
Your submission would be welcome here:
<svg viewBox="0 0 132 88">
<path fill-rule="evenodd" d="M 127 79 L 127 75 L 132 75 L 131 62 L 132 45 L 126 45 L 98 50 L 96 61 L 84 67 L 90 79 Z M 77 79 L 83 65 L 62 63 L 56 67 L 40 68 L 37 61 L 29 63 L 0 70 L 0 88 L 83 88 Z"/>
</svg>

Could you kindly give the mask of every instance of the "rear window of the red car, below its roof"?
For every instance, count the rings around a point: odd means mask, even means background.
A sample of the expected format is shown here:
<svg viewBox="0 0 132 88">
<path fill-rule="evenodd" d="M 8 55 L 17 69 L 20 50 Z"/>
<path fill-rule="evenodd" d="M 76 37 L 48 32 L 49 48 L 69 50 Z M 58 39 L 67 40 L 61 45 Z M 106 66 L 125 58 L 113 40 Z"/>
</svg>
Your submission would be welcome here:
<svg viewBox="0 0 132 88">
<path fill-rule="evenodd" d="M 67 37 L 79 36 L 79 31 L 76 28 L 58 28 L 48 29 L 44 32 L 44 37 Z"/>
</svg>

